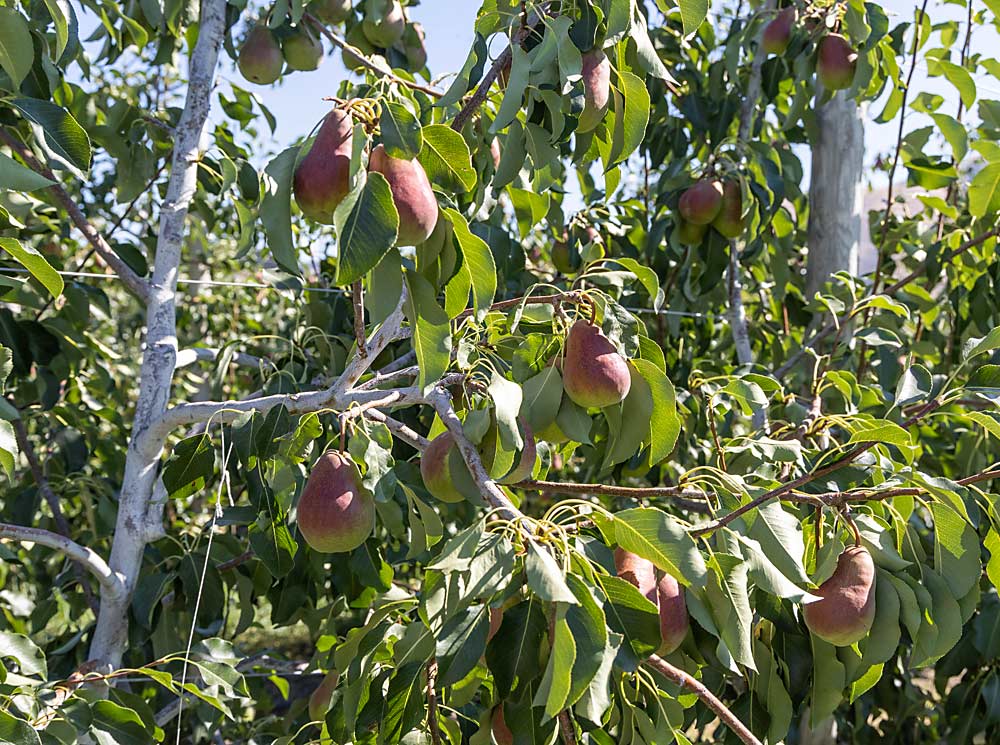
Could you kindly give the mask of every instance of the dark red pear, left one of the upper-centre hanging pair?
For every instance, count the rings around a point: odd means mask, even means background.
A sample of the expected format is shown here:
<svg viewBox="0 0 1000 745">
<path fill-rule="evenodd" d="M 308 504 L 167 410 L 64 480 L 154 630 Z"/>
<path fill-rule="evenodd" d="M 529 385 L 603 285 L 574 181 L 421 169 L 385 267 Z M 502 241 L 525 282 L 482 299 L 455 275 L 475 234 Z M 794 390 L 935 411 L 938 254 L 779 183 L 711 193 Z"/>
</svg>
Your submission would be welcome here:
<svg viewBox="0 0 1000 745">
<path fill-rule="evenodd" d="M 330 225 L 333 211 L 351 190 L 354 119 L 334 109 L 320 125 L 316 139 L 299 161 L 292 178 L 295 201 L 310 220 Z"/>
</svg>

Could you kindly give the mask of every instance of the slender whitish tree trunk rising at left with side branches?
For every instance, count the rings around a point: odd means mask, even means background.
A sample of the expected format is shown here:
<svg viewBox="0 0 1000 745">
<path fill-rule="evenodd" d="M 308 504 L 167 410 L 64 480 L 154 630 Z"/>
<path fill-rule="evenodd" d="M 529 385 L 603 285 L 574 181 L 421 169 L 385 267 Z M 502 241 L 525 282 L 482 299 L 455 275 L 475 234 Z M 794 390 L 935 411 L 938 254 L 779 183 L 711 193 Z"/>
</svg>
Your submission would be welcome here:
<svg viewBox="0 0 1000 745">
<path fill-rule="evenodd" d="M 203 0 L 198 41 L 191 53 L 187 97 L 177 124 L 167 196 L 160 211 L 153 278 L 146 308 L 146 349 L 139 378 L 132 437 L 118 499 L 118 518 L 109 564 L 124 592 L 101 594 L 101 610 L 91 641 L 90 657 L 103 668 L 120 667 L 128 644 L 128 609 L 142 554 L 162 532 L 163 499 L 153 499 L 163 438 L 149 430 L 167 409 L 177 361 L 177 269 L 184 243 L 188 205 L 197 188 L 198 159 L 212 85 L 225 31 L 225 0 Z"/>
</svg>

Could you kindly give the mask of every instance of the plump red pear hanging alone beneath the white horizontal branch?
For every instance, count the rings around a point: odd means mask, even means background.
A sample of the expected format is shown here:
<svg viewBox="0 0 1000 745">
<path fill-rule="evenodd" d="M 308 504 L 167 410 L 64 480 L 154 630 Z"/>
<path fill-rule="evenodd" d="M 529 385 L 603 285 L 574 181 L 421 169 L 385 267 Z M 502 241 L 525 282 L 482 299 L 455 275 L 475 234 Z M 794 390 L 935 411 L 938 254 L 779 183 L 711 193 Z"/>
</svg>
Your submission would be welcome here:
<svg viewBox="0 0 1000 745">
<path fill-rule="evenodd" d="M 299 497 L 302 537 L 324 553 L 353 551 L 375 526 L 375 499 L 361 483 L 349 456 L 330 450 L 320 456 Z"/>
</svg>

